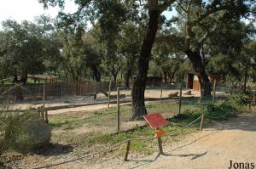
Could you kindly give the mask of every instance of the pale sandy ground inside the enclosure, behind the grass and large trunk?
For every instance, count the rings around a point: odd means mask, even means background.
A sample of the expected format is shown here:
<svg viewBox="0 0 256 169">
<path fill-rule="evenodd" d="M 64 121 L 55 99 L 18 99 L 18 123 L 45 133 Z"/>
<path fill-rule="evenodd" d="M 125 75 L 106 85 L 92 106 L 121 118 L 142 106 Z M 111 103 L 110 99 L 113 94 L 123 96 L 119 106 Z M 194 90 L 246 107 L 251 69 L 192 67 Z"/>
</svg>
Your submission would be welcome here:
<svg viewBox="0 0 256 169">
<path fill-rule="evenodd" d="M 178 92 L 178 90 L 174 89 L 166 89 L 162 92 L 162 98 L 167 98 L 170 93 Z M 191 90 L 191 95 L 185 94 L 187 90 L 183 91 L 183 97 L 200 97 L 200 93 L 198 91 Z M 116 92 L 112 92 L 111 95 L 116 95 Z M 120 94 L 125 94 L 124 99 L 120 99 L 120 101 L 123 100 L 131 100 L 131 90 L 121 90 Z M 216 93 L 216 95 L 224 95 L 224 93 Z M 154 89 L 154 90 L 146 90 L 145 92 L 145 98 L 160 98 L 160 89 Z M 111 101 L 115 101 L 116 99 L 113 98 Z M 79 104 L 92 104 L 95 103 L 96 105 L 85 105 L 85 106 L 79 106 L 75 108 L 67 108 L 67 109 L 60 109 L 60 110 L 50 110 L 49 114 L 60 114 L 60 113 L 67 113 L 67 112 L 77 112 L 77 111 L 94 111 L 94 110 L 101 110 L 108 107 L 108 104 L 106 103 L 108 101 L 108 98 L 104 96 L 102 93 L 97 94 L 97 98 L 93 99 L 93 96 L 74 96 L 74 97 L 66 97 L 66 98 L 60 98 L 60 99 L 51 99 L 45 101 L 45 107 L 55 107 L 55 106 L 62 106 L 62 105 L 79 105 Z M 103 103 L 102 103 L 103 102 Z M 99 104 L 102 103 L 102 104 Z M 38 108 L 39 106 L 42 106 L 42 100 L 40 101 L 32 101 L 31 103 L 22 103 L 22 104 L 13 104 L 11 105 L 12 109 L 20 109 L 20 110 L 26 110 L 30 108 Z M 116 104 L 110 104 L 110 106 L 115 106 Z"/>
</svg>

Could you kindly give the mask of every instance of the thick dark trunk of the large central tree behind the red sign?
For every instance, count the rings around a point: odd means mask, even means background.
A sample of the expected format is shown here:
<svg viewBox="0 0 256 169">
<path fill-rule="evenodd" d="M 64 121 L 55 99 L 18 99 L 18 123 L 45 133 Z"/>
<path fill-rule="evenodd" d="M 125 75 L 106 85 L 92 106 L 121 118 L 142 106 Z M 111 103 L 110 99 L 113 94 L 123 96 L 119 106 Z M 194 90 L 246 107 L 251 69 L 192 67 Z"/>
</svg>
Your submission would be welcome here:
<svg viewBox="0 0 256 169">
<path fill-rule="evenodd" d="M 143 46 L 137 60 L 137 76 L 131 90 L 131 119 L 137 119 L 143 115 L 147 115 L 144 102 L 144 92 L 146 88 L 149 58 L 158 29 L 160 12 L 158 10 L 149 10 L 148 13 L 148 31 L 143 39 Z"/>
</svg>

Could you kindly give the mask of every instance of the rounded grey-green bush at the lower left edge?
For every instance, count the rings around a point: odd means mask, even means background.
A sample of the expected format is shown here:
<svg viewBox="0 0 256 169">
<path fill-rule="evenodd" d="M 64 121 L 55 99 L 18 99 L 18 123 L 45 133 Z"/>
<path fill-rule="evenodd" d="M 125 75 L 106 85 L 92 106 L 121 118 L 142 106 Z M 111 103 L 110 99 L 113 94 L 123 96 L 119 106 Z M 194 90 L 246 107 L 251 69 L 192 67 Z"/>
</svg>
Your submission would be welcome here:
<svg viewBox="0 0 256 169">
<path fill-rule="evenodd" d="M 50 128 L 36 112 L 0 110 L 0 155 L 14 149 L 26 153 L 49 144 Z"/>
</svg>

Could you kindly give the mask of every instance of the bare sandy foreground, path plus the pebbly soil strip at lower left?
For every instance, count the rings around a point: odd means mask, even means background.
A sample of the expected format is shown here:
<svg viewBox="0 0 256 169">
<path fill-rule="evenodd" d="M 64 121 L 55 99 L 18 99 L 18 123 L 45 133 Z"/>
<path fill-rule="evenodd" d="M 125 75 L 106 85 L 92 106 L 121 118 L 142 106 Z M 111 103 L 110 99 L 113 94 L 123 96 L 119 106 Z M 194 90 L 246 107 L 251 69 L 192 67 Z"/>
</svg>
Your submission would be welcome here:
<svg viewBox="0 0 256 169">
<path fill-rule="evenodd" d="M 129 161 L 125 162 L 123 161 L 124 155 L 114 153 L 119 151 L 119 149 L 115 149 L 113 153 L 108 155 L 90 156 L 87 159 L 49 168 L 228 168 L 230 161 L 233 163 L 256 163 L 255 140 L 256 112 L 254 111 L 241 114 L 229 121 L 216 122 L 212 127 L 207 127 L 202 132 L 183 136 L 182 141 L 164 142 L 166 155 L 158 155 L 156 152 L 150 156 L 130 154 Z M 67 149 L 67 154 L 61 153 L 59 155 L 57 149 L 55 155 L 27 155 L 10 163 L 13 166 L 30 168 L 67 161 L 77 156 L 69 152 L 68 147 L 61 147 L 60 149 Z M 95 151 L 99 149 L 95 149 Z M 86 149 L 82 152 L 86 155 Z M 79 155 L 81 154 L 83 153 Z M 15 165 L 15 163 L 18 164 Z"/>
</svg>

